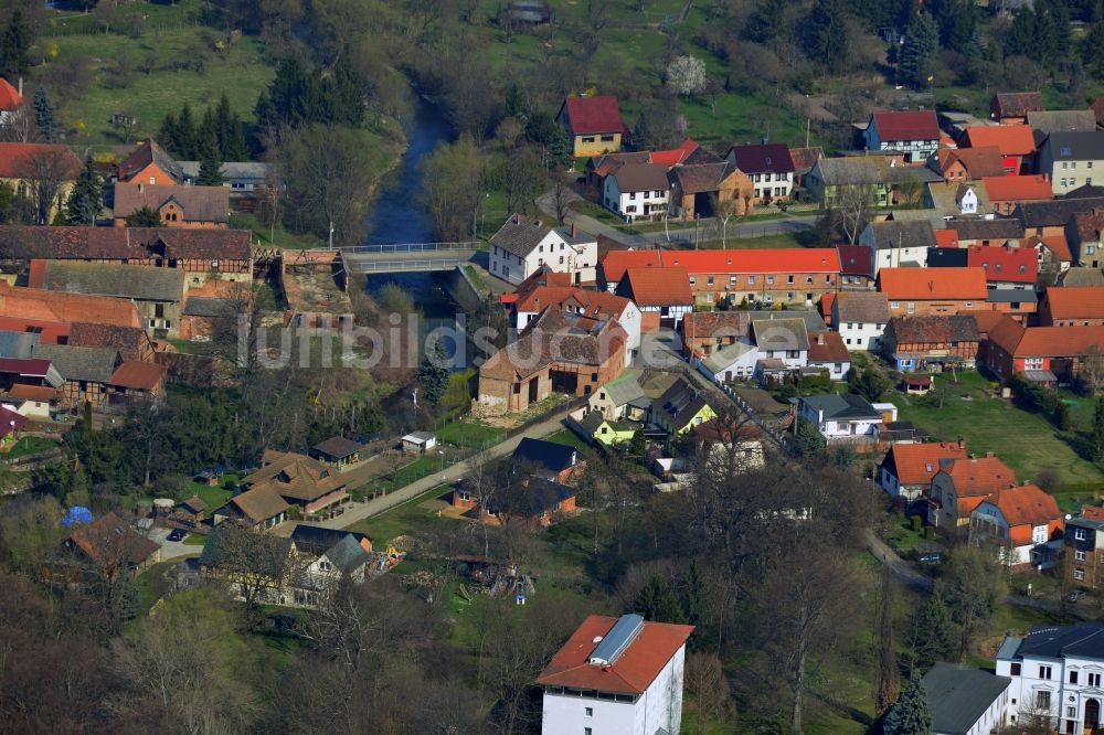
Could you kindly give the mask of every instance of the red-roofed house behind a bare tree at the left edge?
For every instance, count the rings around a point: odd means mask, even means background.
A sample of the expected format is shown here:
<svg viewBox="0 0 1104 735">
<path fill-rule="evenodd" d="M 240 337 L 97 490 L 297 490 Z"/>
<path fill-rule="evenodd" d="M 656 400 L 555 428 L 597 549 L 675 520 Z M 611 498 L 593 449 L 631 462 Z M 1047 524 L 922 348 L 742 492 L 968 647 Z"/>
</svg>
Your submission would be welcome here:
<svg viewBox="0 0 1104 735">
<path fill-rule="evenodd" d="M 0 142 L 0 183 L 25 203 L 35 224 L 53 222 L 83 168 L 67 146 Z"/>
</svg>

